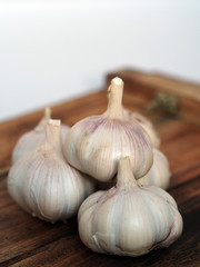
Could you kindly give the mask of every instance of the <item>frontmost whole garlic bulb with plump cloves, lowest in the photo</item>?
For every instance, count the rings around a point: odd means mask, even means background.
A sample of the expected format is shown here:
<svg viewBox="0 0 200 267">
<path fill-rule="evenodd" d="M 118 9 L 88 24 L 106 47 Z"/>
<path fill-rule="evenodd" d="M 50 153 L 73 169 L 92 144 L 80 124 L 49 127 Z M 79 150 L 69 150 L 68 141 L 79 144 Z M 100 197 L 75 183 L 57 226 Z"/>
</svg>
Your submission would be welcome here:
<svg viewBox="0 0 200 267">
<path fill-rule="evenodd" d="M 140 256 L 156 247 L 168 247 L 182 233 L 174 199 L 161 188 L 140 187 L 128 157 L 119 161 L 116 187 L 87 198 L 78 221 L 87 247 L 120 256 Z"/>
</svg>

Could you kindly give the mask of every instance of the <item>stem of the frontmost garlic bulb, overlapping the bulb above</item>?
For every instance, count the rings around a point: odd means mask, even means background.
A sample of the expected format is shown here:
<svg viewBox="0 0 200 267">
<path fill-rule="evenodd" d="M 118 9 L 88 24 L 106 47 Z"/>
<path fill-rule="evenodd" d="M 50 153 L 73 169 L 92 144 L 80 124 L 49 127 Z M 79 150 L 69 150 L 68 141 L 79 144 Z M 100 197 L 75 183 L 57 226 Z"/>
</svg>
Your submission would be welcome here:
<svg viewBox="0 0 200 267">
<path fill-rule="evenodd" d="M 126 187 L 128 185 L 138 186 L 133 176 L 130 158 L 123 157 L 118 162 L 117 187 Z"/>
</svg>

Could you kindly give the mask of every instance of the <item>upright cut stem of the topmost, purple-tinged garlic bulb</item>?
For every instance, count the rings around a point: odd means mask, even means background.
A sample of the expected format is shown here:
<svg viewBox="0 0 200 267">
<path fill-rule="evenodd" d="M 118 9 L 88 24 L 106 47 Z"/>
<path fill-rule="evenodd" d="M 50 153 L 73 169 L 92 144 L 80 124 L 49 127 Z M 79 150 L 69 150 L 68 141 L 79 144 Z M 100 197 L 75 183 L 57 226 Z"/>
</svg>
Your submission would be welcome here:
<svg viewBox="0 0 200 267">
<path fill-rule="evenodd" d="M 107 113 L 110 118 L 117 119 L 121 117 L 122 110 L 122 97 L 123 97 L 123 81 L 116 77 L 111 80 L 111 85 L 108 88 L 109 102 Z"/>
</svg>

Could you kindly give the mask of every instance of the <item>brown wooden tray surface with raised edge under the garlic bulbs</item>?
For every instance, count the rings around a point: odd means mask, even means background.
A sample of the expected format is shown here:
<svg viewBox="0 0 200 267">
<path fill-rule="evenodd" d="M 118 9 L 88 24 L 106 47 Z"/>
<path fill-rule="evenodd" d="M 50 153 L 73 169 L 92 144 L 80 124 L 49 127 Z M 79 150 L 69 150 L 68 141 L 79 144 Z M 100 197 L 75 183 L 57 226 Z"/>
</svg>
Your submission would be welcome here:
<svg viewBox="0 0 200 267">
<path fill-rule="evenodd" d="M 117 75 L 126 85 L 123 106 L 149 117 L 160 135 L 161 150 L 172 171 L 169 192 L 183 217 L 182 236 L 169 248 L 138 258 L 98 255 L 81 243 L 77 218 L 51 225 L 21 210 L 9 197 L 6 179 L 13 146 L 37 125 L 42 115 L 38 111 L 0 125 L 0 266 L 200 266 L 200 87 L 131 70 L 110 73 L 108 81 Z M 147 112 L 147 105 L 158 91 L 178 96 L 180 109 L 176 117 Z M 73 125 L 101 113 L 106 106 L 107 92 L 101 90 L 52 107 L 52 116 Z"/>
</svg>

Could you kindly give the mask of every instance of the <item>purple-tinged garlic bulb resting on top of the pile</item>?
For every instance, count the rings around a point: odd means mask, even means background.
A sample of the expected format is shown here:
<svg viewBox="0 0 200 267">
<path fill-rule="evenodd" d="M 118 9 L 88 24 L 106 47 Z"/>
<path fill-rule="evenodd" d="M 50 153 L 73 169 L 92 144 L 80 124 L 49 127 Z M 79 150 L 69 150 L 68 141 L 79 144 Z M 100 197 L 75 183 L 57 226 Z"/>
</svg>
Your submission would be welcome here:
<svg viewBox="0 0 200 267">
<path fill-rule="evenodd" d="M 74 168 L 100 181 L 111 180 L 118 160 L 129 156 L 134 176 L 142 177 L 152 165 L 151 140 L 136 120 L 128 121 L 120 78 L 112 79 L 109 93 L 106 112 L 80 120 L 69 130 L 64 156 Z"/>
</svg>

